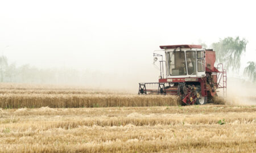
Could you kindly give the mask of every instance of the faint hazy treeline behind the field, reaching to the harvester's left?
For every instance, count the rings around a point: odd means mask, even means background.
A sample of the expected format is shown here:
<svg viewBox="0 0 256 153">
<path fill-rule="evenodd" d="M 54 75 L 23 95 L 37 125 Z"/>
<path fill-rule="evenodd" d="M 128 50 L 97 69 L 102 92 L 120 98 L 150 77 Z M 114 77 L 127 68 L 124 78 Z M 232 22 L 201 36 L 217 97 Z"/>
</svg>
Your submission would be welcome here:
<svg viewBox="0 0 256 153">
<path fill-rule="evenodd" d="M 0 56 L 0 82 L 61 84 L 93 89 L 137 91 L 137 76 L 123 73 L 104 73 L 96 70 L 77 70 L 69 67 L 39 69 L 30 65 L 16 66 Z M 122 84 L 122 86 L 120 86 Z M 1 87 L 0 87 L 1 88 Z"/>
</svg>

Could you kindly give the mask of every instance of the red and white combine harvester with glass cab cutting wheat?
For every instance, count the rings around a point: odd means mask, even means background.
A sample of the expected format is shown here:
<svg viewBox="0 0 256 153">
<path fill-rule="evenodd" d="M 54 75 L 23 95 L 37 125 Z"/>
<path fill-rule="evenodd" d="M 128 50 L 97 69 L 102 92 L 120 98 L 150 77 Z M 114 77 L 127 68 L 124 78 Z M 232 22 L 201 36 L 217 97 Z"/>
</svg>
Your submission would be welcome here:
<svg viewBox="0 0 256 153">
<path fill-rule="evenodd" d="M 159 82 L 139 83 L 138 94 L 179 95 L 183 105 L 207 104 L 217 96 L 217 88 L 223 88 L 226 96 L 226 70 L 222 63 L 214 67 L 216 56 L 212 49 L 202 49 L 201 45 L 166 45 L 160 48 L 166 60 L 162 54 L 154 53 L 154 62 L 158 57 L 162 58 L 159 61 Z"/>
</svg>

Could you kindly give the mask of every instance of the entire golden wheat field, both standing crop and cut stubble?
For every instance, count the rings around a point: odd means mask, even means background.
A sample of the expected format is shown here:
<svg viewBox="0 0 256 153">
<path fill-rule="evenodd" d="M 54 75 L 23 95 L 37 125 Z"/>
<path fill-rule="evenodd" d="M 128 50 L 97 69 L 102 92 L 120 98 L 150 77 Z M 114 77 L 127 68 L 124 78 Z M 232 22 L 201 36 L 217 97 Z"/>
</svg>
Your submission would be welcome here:
<svg viewBox="0 0 256 153">
<path fill-rule="evenodd" d="M 0 152 L 255 152 L 255 105 L 2 84 Z"/>
</svg>

